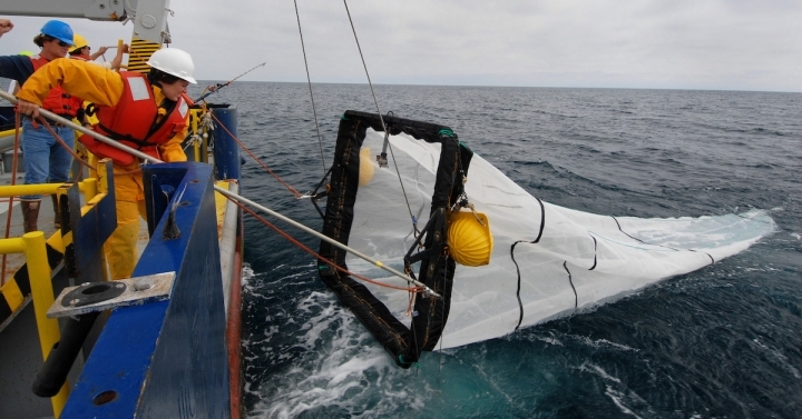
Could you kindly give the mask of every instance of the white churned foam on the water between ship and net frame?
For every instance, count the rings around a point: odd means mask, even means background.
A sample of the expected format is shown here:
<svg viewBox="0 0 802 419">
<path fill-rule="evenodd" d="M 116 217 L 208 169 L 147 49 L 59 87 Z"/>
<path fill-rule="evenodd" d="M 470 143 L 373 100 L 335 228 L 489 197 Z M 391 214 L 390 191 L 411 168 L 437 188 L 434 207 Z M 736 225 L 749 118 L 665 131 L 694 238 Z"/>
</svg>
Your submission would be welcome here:
<svg viewBox="0 0 802 419">
<path fill-rule="evenodd" d="M 336 298 L 313 291 L 300 296 L 296 308 L 305 313 L 302 336 L 293 345 L 303 349 L 302 356 L 285 370 L 273 373 L 263 388 L 246 387 L 261 400 L 251 411 L 252 417 L 292 418 L 314 412 L 370 418 L 394 411 L 399 405 L 412 409 L 423 406 L 418 396 L 399 385 L 401 380 L 392 377 L 408 371 L 392 363 Z M 389 387 L 382 387 L 381 399 L 374 400 L 376 389 L 368 387 L 368 382 Z"/>
</svg>

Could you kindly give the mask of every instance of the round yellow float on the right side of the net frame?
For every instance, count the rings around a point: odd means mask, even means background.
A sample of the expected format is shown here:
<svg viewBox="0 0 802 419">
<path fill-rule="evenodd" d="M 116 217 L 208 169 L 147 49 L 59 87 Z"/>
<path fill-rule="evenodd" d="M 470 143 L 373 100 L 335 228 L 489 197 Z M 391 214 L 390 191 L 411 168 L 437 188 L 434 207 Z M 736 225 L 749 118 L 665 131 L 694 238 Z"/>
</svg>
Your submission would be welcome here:
<svg viewBox="0 0 802 419">
<path fill-rule="evenodd" d="M 451 213 L 448 222 L 449 253 L 457 263 L 467 267 L 490 263 L 493 242 L 487 216 L 458 211 Z"/>
</svg>

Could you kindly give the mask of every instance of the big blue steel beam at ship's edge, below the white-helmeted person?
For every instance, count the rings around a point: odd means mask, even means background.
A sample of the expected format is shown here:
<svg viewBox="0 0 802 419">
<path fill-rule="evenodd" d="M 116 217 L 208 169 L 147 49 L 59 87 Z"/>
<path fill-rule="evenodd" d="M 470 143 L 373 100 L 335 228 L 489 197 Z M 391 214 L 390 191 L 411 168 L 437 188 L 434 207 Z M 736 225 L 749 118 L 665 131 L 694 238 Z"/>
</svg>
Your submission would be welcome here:
<svg viewBox="0 0 802 419">
<path fill-rule="evenodd" d="M 168 163 L 144 171 L 145 179 L 185 190 L 180 236 L 162 238 L 162 217 L 134 271 L 175 271 L 173 297 L 114 310 L 62 418 L 231 417 L 221 252 L 216 223 L 208 222 L 216 217 L 212 169 Z"/>
</svg>

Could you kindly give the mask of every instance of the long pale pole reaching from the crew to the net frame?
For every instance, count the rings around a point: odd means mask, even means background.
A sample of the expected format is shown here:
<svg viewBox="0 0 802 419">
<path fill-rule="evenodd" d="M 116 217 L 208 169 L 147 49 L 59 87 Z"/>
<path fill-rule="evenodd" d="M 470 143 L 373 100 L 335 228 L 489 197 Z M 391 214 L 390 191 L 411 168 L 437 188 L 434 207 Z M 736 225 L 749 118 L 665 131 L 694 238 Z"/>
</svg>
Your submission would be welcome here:
<svg viewBox="0 0 802 419">
<path fill-rule="evenodd" d="M 6 100 L 9 100 L 11 103 L 17 103 L 17 98 L 13 97 L 12 94 L 9 94 L 9 93 L 4 92 L 4 91 L 0 91 L 0 98 L 3 98 L 3 99 L 6 99 Z M 52 113 L 52 112 L 50 112 L 50 111 L 48 111 L 48 110 L 39 109 L 39 113 L 40 113 L 41 116 L 43 116 L 43 117 L 47 117 L 48 119 L 50 119 L 50 120 L 52 120 L 52 121 L 56 121 L 56 122 L 62 123 L 62 124 L 65 124 L 65 126 L 71 127 L 71 128 L 75 129 L 76 131 L 86 133 L 86 134 L 88 134 L 88 136 L 97 139 L 97 140 L 100 141 L 100 142 L 104 142 L 104 143 L 106 143 L 106 144 L 109 144 L 109 146 L 111 146 L 111 147 L 115 147 L 115 148 L 117 148 L 117 149 L 119 149 L 119 150 L 123 150 L 123 151 L 125 151 L 125 152 L 127 152 L 127 153 L 129 153 L 129 154 L 131 154 L 131 156 L 134 156 L 134 157 L 137 157 L 137 158 L 139 158 L 139 159 L 143 159 L 143 160 L 145 160 L 145 161 L 147 161 L 147 162 L 150 162 L 150 163 L 164 163 L 164 161 L 162 161 L 162 160 L 159 160 L 159 159 L 157 159 L 157 158 L 155 158 L 155 157 L 153 157 L 153 156 L 148 156 L 148 154 L 146 154 L 146 153 L 144 153 L 144 152 L 135 149 L 135 148 L 128 147 L 128 146 L 123 144 L 123 143 L 118 142 L 118 141 L 115 141 L 115 140 L 113 140 L 113 139 L 110 139 L 110 138 L 108 138 L 108 137 L 105 137 L 105 136 L 102 136 L 102 134 L 99 134 L 99 133 L 95 132 L 94 130 L 90 130 L 90 129 L 87 129 L 87 128 L 85 128 L 85 127 L 81 127 L 81 126 L 79 126 L 79 124 L 77 124 L 77 123 L 75 123 L 75 122 L 72 122 L 72 121 L 70 121 L 70 120 L 68 120 L 68 119 L 61 118 L 61 117 L 59 117 L 58 114 Z M 258 204 L 258 203 L 256 203 L 256 202 L 254 202 L 254 201 L 252 201 L 252 200 L 250 200 L 250 199 L 247 199 L 247 198 L 245 198 L 245 197 L 243 197 L 243 196 L 241 196 L 241 194 L 234 193 L 234 192 L 232 192 L 232 191 L 229 191 L 229 190 L 227 190 L 227 189 L 224 189 L 224 188 L 222 188 L 222 187 L 218 187 L 218 186 L 216 186 L 216 184 L 214 186 L 214 190 L 215 190 L 216 192 L 221 193 L 222 196 L 226 197 L 228 200 L 235 202 L 236 204 L 241 204 L 241 203 L 247 204 L 247 206 L 253 207 L 253 208 L 256 208 L 256 209 L 258 209 L 258 210 L 261 210 L 261 211 L 263 211 L 263 212 L 266 212 L 266 213 L 270 215 L 270 216 L 273 216 L 273 217 L 275 217 L 275 218 L 277 218 L 277 219 L 280 219 L 280 220 L 282 220 L 282 221 L 284 221 L 284 222 L 286 222 L 286 223 L 288 223 L 288 225 L 291 225 L 291 226 L 293 226 L 293 227 L 295 227 L 295 228 L 297 228 L 297 229 L 301 229 L 301 230 L 305 231 L 305 232 L 309 233 L 309 235 L 312 235 L 312 236 L 314 236 L 314 237 L 316 237 L 316 238 L 319 238 L 319 239 L 321 239 L 321 240 L 323 240 L 323 241 L 325 241 L 325 242 L 327 242 L 327 243 L 330 243 L 330 245 L 332 245 L 332 246 L 334 246 L 334 247 L 336 247 L 336 248 L 340 248 L 340 249 L 342 249 L 342 250 L 344 250 L 344 251 L 346 251 L 346 252 L 350 252 L 351 255 L 353 255 L 353 256 L 355 256 L 355 257 L 358 257 L 358 258 L 360 258 L 360 259 L 362 259 L 362 260 L 364 260 L 364 261 L 368 261 L 368 262 L 372 263 L 373 266 L 375 266 L 375 267 L 378 267 L 378 268 L 381 268 L 382 270 L 388 271 L 388 272 L 390 272 L 390 273 L 392 273 L 392 275 L 394 275 L 394 276 L 403 279 L 404 281 L 409 282 L 410 285 L 414 285 L 414 286 L 417 286 L 417 287 L 420 287 L 421 290 L 420 290 L 419 292 L 423 292 L 424 295 L 427 295 L 427 296 L 429 296 L 429 297 L 434 297 L 434 298 L 441 298 L 441 297 L 442 297 L 442 296 L 440 296 L 439 293 L 437 293 L 434 290 L 432 290 L 431 288 L 429 288 L 427 285 L 424 285 L 423 282 L 420 282 L 420 281 L 418 281 L 417 279 L 412 279 L 412 278 L 410 278 L 409 276 L 400 272 L 399 270 L 397 270 L 397 269 L 394 269 L 394 268 L 391 268 L 391 267 L 389 267 L 389 266 L 385 266 L 383 262 L 381 262 L 381 261 L 379 261 L 379 260 L 375 260 L 375 259 L 372 259 L 371 257 L 362 253 L 361 251 L 359 251 L 359 250 L 356 250 L 356 249 L 353 249 L 353 248 L 351 248 L 351 247 L 349 247 L 349 246 L 346 246 L 346 245 L 343 245 L 343 243 L 341 243 L 341 242 L 339 242 L 339 241 L 336 241 L 336 240 L 334 240 L 334 239 L 332 239 L 332 238 L 330 238 L 330 237 L 327 237 L 327 236 L 325 236 L 325 235 L 323 235 L 323 233 L 321 233 L 321 232 L 319 232 L 319 231 L 316 231 L 316 230 L 313 230 L 313 229 L 311 229 L 311 228 L 309 228 L 309 227 L 306 227 L 306 226 L 304 226 L 304 225 L 302 225 L 302 223 L 300 223 L 300 222 L 297 222 L 297 221 L 295 221 L 295 220 L 293 220 L 293 219 L 291 219 L 291 218 L 288 218 L 288 217 L 282 216 L 281 213 L 278 213 L 278 212 L 276 212 L 276 211 L 273 211 L 273 210 L 271 210 L 271 209 L 267 208 L 267 207 L 261 206 L 261 204 Z M 407 289 L 407 288 L 404 288 L 404 289 Z"/>
</svg>

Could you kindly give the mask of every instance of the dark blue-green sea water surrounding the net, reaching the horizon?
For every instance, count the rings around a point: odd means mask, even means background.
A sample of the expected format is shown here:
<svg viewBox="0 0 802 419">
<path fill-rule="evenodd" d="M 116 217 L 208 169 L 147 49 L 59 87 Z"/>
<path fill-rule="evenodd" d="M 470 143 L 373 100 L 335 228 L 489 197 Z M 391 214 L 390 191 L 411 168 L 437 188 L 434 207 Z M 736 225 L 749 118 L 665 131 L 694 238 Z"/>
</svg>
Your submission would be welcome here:
<svg viewBox="0 0 802 419">
<path fill-rule="evenodd" d="M 307 84 L 237 82 L 211 98 L 236 103 L 238 138 L 301 192 L 313 190 L 331 164 L 342 113 L 376 112 L 368 86 L 312 90 L 322 143 Z M 310 255 L 247 217 L 242 343 L 248 418 L 800 416 L 802 94 L 374 91 L 382 113 L 451 127 L 545 201 L 644 218 L 766 209 L 779 231 L 616 302 L 424 352 L 417 367 L 402 370 L 319 280 Z M 320 228 L 309 200 L 296 200 L 243 154 L 246 197 Z M 398 191 L 388 193 L 404 204 Z M 317 249 L 316 239 L 276 225 Z"/>
</svg>

